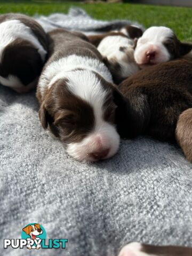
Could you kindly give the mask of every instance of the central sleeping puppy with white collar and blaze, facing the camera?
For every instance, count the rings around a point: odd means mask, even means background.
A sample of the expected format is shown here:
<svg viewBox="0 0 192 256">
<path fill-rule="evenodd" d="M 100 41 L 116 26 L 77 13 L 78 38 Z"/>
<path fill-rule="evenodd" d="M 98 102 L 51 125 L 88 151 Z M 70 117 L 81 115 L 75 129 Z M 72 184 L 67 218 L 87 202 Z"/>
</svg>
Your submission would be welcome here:
<svg viewBox="0 0 192 256">
<path fill-rule="evenodd" d="M 97 49 L 80 33 L 49 33 L 50 58 L 39 78 L 39 118 L 79 161 L 113 156 L 119 147 L 115 111 L 122 95 Z"/>
</svg>

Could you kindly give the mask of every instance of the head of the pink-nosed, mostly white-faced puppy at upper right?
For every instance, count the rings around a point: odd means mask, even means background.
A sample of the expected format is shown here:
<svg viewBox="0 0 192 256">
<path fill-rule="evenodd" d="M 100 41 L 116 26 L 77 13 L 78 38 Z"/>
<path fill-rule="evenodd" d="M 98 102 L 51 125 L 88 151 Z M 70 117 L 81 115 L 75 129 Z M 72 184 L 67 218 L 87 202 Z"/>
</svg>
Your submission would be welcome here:
<svg viewBox="0 0 192 256">
<path fill-rule="evenodd" d="M 170 28 L 150 27 L 138 39 L 134 58 L 141 68 L 185 55 L 192 44 L 181 43 Z"/>
</svg>

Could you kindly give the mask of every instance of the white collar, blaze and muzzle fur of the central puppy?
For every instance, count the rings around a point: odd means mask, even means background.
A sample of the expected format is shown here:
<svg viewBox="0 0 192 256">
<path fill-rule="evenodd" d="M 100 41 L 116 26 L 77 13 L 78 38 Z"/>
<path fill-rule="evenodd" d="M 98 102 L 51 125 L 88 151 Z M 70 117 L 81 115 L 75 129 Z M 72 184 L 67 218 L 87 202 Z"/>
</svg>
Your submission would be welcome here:
<svg viewBox="0 0 192 256">
<path fill-rule="evenodd" d="M 83 68 L 83 70 L 77 70 L 77 68 Z M 109 149 L 109 153 L 104 158 L 111 157 L 119 147 L 119 135 L 115 125 L 103 120 L 103 103 L 107 91 L 103 89 L 95 72 L 106 81 L 113 82 L 109 70 L 102 62 L 77 55 L 70 55 L 52 62 L 39 79 L 43 95 L 46 86 L 50 88 L 58 79 L 67 78 L 68 89 L 88 102 L 93 108 L 95 119 L 93 130 L 82 141 L 67 145 L 68 154 L 79 161 L 96 161 L 90 154 L 105 149 Z"/>
</svg>

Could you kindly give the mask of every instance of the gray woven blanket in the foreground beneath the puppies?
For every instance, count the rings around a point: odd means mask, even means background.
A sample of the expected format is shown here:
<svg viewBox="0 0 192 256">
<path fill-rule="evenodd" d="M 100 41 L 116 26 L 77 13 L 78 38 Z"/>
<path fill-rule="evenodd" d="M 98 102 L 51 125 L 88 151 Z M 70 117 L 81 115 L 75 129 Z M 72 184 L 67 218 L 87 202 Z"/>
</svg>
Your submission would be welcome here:
<svg viewBox="0 0 192 256">
<path fill-rule="evenodd" d="M 192 246 L 192 166 L 177 145 L 121 142 L 118 154 L 79 163 L 43 130 L 35 92 L 0 86 L 0 255 L 115 256 L 130 241 Z M 67 249 L 3 249 L 28 223 Z"/>
</svg>

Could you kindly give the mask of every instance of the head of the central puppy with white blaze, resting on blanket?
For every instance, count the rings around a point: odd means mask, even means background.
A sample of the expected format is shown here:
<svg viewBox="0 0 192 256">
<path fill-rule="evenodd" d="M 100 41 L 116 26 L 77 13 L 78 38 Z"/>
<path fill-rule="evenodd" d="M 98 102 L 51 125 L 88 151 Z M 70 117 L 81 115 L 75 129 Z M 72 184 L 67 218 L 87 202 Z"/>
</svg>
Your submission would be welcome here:
<svg viewBox="0 0 192 256">
<path fill-rule="evenodd" d="M 120 93 L 93 71 L 73 70 L 55 78 L 39 110 L 42 125 L 65 143 L 79 161 L 113 156 L 119 147 L 115 127 Z M 121 98 L 121 96 L 120 96 Z"/>
</svg>

